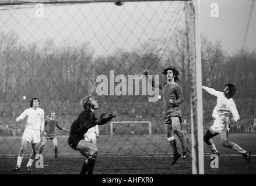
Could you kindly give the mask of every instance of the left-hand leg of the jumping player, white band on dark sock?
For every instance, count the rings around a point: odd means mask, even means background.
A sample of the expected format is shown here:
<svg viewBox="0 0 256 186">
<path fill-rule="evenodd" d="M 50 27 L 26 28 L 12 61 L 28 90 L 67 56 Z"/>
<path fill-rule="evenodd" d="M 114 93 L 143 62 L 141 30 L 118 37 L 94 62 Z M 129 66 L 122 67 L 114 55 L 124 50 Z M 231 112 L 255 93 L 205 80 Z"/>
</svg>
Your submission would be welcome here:
<svg viewBox="0 0 256 186">
<path fill-rule="evenodd" d="M 177 143 L 173 135 L 173 128 L 171 124 L 164 124 L 164 126 L 167 131 L 167 139 L 169 141 L 169 144 L 171 145 L 171 149 L 173 150 L 173 162 L 171 163 L 173 165 L 177 162 L 181 155 L 178 153 Z"/>
</svg>

